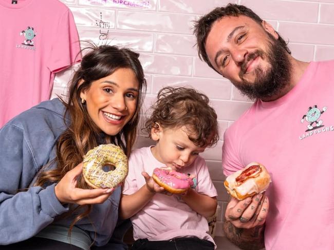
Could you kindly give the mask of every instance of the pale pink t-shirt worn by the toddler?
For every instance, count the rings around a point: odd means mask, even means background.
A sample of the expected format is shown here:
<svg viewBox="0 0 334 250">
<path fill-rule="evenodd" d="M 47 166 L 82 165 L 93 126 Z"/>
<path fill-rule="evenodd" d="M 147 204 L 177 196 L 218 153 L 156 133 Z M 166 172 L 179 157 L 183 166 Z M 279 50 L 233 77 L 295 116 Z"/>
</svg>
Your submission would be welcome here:
<svg viewBox="0 0 334 250">
<path fill-rule="evenodd" d="M 123 194 L 131 195 L 146 182 L 141 172 L 152 176 L 153 170 L 164 166 L 152 154 L 151 147 L 134 150 L 129 157 L 129 173 L 124 182 Z M 210 197 L 217 196 L 205 160 L 198 156 L 194 163 L 180 171 L 197 177 L 196 192 Z M 131 218 L 134 239 L 147 238 L 150 241 L 170 240 L 176 237 L 196 236 L 210 240 L 207 219 L 192 210 L 178 195 L 155 194 L 141 211 Z"/>
</svg>

